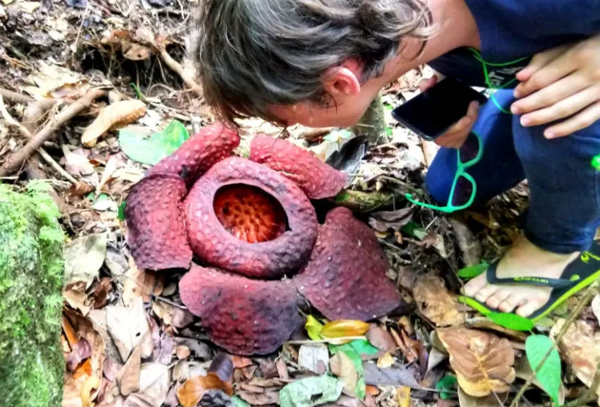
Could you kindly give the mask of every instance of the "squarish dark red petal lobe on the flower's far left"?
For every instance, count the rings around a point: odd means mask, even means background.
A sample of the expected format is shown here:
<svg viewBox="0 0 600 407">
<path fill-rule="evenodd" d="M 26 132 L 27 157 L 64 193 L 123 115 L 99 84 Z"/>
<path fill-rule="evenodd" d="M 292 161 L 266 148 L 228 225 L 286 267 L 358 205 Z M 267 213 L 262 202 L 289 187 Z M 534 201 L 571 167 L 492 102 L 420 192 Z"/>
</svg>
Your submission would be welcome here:
<svg viewBox="0 0 600 407">
<path fill-rule="evenodd" d="M 186 186 L 179 176 L 143 178 L 131 188 L 125 205 L 127 243 L 143 269 L 188 268 L 192 251 L 184 224 Z"/>
</svg>

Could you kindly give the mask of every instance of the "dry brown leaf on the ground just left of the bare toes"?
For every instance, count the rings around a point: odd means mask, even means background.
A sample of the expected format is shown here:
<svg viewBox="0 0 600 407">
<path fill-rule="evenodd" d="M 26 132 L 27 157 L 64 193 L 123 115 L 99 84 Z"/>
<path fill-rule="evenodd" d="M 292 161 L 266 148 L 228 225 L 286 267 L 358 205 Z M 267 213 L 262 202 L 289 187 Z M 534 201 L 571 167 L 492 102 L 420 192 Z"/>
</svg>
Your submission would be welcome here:
<svg viewBox="0 0 600 407">
<path fill-rule="evenodd" d="M 444 281 L 434 274 L 416 280 L 413 292 L 419 311 L 438 327 L 460 324 L 463 320 L 458 312 L 458 301 L 450 296 Z"/>
</svg>

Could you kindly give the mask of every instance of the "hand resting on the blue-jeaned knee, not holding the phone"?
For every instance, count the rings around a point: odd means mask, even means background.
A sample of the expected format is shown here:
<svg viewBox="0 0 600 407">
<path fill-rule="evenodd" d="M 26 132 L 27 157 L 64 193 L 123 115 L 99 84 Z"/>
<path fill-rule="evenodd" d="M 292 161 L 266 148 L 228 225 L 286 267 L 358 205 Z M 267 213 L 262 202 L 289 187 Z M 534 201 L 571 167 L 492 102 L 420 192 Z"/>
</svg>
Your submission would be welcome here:
<svg viewBox="0 0 600 407">
<path fill-rule="evenodd" d="M 524 127 L 564 119 L 544 130 L 546 138 L 570 135 L 600 120 L 600 35 L 534 55 L 517 73 L 510 111 Z"/>
</svg>

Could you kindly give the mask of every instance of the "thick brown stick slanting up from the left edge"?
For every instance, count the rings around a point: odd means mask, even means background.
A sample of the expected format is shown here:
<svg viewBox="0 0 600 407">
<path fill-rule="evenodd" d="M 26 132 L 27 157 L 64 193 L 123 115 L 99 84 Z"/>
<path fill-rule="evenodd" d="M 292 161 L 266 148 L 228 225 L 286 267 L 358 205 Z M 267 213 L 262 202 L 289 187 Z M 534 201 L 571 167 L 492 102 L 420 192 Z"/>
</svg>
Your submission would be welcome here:
<svg viewBox="0 0 600 407">
<path fill-rule="evenodd" d="M 11 174 L 12 171 L 18 169 L 18 167 L 25 162 L 29 156 L 40 148 L 40 146 L 47 141 L 56 130 L 60 128 L 64 123 L 71 120 L 73 116 L 79 114 L 83 109 L 90 107 L 90 104 L 94 102 L 95 99 L 105 95 L 106 92 L 102 89 L 92 89 L 88 91 L 83 97 L 78 99 L 76 102 L 73 102 L 69 107 L 66 107 L 63 111 L 61 111 L 54 119 L 49 121 L 49 123 L 40 130 L 33 138 L 23 146 L 18 152 L 13 154 L 12 157 L 8 158 L 4 165 L 0 166 L 0 176 L 7 176 Z"/>
</svg>

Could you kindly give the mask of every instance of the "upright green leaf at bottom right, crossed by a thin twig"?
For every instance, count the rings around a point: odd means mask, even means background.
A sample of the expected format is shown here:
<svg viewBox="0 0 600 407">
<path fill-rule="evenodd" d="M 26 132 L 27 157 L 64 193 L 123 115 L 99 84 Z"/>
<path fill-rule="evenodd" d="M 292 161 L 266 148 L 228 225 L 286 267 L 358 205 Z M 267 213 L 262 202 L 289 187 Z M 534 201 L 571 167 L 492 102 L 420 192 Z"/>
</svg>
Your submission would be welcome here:
<svg viewBox="0 0 600 407">
<path fill-rule="evenodd" d="M 525 341 L 525 354 L 529 361 L 529 366 L 535 370 L 537 365 L 544 358 L 548 349 L 554 346 L 553 341 L 545 335 L 530 335 Z M 550 356 L 541 365 L 536 372 L 536 378 L 550 396 L 552 401 L 558 406 L 558 391 L 560 390 L 560 356 L 556 348 L 550 353 Z"/>
</svg>

